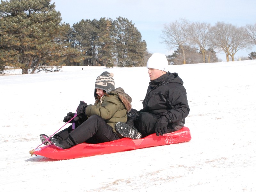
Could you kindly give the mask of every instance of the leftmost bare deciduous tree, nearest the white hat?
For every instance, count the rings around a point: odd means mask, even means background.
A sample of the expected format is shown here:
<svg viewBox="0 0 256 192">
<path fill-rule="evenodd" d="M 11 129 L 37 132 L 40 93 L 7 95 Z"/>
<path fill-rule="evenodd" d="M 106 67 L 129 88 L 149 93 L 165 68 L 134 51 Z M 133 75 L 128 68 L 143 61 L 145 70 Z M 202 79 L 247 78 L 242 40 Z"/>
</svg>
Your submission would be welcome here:
<svg viewBox="0 0 256 192">
<path fill-rule="evenodd" d="M 186 19 L 180 19 L 179 21 L 174 21 L 168 25 L 164 25 L 163 43 L 167 44 L 169 48 L 179 47 L 182 50 L 183 64 L 186 64 L 186 56 L 184 46 L 188 44 L 188 26 L 189 22 Z"/>
</svg>

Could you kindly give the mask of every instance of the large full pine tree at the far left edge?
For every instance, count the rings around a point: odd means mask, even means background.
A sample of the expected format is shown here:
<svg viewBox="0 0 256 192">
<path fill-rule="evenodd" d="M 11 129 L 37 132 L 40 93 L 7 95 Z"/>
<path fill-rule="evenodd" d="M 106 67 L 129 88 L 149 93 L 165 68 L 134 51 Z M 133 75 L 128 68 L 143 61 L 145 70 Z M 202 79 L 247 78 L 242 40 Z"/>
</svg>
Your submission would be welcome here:
<svg viewBox="0 0 256 192">
<path fill-rule="evenodd" d="M 51 0 L 10 0 L 0 4 L 1 60 L 22 74 L 58 66 L 66 59 L 66 26 Z M 72 50 L 74 51 L 74 50 Z"/>
</svg>

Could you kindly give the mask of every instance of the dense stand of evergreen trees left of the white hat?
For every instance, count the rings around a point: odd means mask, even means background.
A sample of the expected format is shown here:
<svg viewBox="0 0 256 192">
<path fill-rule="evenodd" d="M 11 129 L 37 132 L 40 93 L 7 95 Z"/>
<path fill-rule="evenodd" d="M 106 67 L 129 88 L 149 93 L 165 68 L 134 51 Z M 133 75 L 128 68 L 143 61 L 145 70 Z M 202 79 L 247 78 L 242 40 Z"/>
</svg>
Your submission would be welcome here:
<svg viewBox="0 0 256 192">
<path fill-rule="evenodd" d="M 61 65 L 142 66 L 147 44 L 132 21 L 81 20 L 60 23 L 51 0 L 10 0 L 0 4 L 0 66 L 58 70 Z M 55 68 L 54 68 L 55 67 Z"/>
</svg>

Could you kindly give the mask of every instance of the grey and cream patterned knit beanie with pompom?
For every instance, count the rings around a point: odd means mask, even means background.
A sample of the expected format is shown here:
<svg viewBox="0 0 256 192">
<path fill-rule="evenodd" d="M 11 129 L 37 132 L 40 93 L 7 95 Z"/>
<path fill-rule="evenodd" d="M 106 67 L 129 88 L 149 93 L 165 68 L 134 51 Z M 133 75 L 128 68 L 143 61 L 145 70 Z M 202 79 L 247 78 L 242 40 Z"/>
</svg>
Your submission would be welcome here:
<svg viewBox="0 0 256 192">
<path fill-rule="evenodd" d="M 102 89 L 106 91 L 107 94 L 113 91 L 115 89 L 115 81 L 112 78 L 113 76 L 114 74 L 108 73 L 108 71 L 101 73 L 100 76 L 96 78 L 95 90 Z"/>
</svg>

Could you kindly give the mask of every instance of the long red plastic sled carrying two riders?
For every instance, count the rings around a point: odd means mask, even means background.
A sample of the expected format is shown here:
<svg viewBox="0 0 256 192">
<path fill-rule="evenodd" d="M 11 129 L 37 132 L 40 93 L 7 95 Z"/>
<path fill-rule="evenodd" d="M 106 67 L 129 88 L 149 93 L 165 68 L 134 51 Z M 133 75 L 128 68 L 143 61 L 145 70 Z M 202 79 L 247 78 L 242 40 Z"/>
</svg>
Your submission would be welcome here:
<svg viewBox="0 0 256 192">
<path fill-rule="evenodd" d="M 156 133 L 154 133 L 137 140 L 123 138 L 99 144 L 82 143 L 69 149 L 58 149 L 54 145 L 47 145 L 37 148 L 33 154 L 51 159 L 64 160 L 155 147 L 160 145 L 169 145 L 190 140 L 191 135 L 188 127 L 183 127 L 179 131 L 167 133 L 163 136 L 158 137 L 156 136 Z"/>
</svg>

